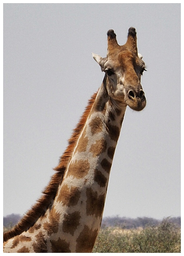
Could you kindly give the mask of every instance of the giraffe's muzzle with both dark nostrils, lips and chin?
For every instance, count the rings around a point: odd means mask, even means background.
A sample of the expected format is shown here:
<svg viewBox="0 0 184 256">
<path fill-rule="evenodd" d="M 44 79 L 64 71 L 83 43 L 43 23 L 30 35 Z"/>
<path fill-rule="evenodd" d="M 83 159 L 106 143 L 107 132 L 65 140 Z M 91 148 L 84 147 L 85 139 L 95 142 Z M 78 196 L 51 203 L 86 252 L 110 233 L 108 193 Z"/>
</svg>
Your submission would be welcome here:
<svg viewBox="0 0 184 256">
<path fill-rule="evenodd" d="M 138 93 L 135 90 L 129 90 L 128 93 L 125 94 L 125 103 L 136 111 L 141 111 L 146 106 L 146 97 L 144 95 L 144 91 L 141 89 Z"/>
</svg>

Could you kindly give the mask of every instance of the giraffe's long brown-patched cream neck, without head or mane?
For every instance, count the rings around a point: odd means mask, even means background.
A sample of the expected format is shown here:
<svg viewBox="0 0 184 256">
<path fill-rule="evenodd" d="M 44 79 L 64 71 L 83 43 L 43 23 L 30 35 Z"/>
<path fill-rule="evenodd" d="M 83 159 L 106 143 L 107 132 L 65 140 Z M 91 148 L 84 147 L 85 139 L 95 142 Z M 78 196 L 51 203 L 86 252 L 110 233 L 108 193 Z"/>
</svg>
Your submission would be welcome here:
<svg viewBox="0 0 184 256">
<path fill-rule="evenodd" d="M 20 250 L 23 244 L 29 252 L 92 251 L 102 221 L 110 169 L 126 110 L 125 104 L 120 107 L 108 96 L 106 83 L 105 75 L 52 208 L 47 209 L 27 232 L 9 240 L 15 244 L 14 239 L 18 239 L 12 252 Z"/>
</svg>

